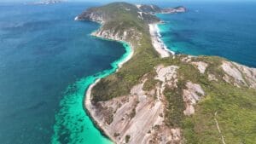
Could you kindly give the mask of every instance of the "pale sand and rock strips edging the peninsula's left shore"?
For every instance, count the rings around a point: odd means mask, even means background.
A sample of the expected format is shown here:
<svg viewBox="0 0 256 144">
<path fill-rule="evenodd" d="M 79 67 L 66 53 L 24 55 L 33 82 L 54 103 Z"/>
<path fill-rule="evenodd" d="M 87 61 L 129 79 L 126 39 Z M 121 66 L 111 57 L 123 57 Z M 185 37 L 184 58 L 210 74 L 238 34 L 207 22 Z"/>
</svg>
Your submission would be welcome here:
<svg viewBox="0 0 256 144">
<path fill-rule="evenodd" d="M 100 36 L 95 35 L 94 33 L 92 33 L 91 35 L 94 36 L 94 37 L 100 37 Z M 102 37 L 101 37 L 101 38 L 102 38 Z M 104 37 L 104 38 L 105 38 L 105 37 Z M 110 39 L 110 40 L 113 40 L 113 39 Z M 115 41 L 122 42 L 122 41 L 119 41 L 119 40 L 115 40 Z M 127 43 L 127 42 L 125 42 L 125 43 Z M 130 48 L 131 48 L 131 53 L 130 53 L 129 55 L 127 55 L 127 57 L 126 57 L 124 60 L 122 60 L 122 61 L 120 61 L 120 62 L 118 63 L 118 68 L 116 69 L 115 72 L 118 72 L 119 68 L 121 68 L 121 67 L 125 64 L 125 62 L 127 62 L 128 60 L 130 60 L 131 57 L 132 57 L 132 55 L 133 55 L 133 53 L 134 53 L 134 49 L 133 49 L 131 43 L 128 43 L 128 44 L 129 44 L 129 46 L 130 46 Z M 113 136 L 108 133 L 108 130 L 105 129 L 105 128 L 106 128 L 106 127 L 104 126 L 105 124 L 103 124 L 103 123 L 101 122 L 101 120 L 96 116 L 96 111 L 95 111 L 96 108 L 91 104 L 91 100 L 92 100 L 92 98 L 91 98 L 91 90 L 93 89 L 93 87 L 94 87 L 100 80 L 101 80 L 101 78 L 96 79 L 96 81 L 95 81 L 93 84 L 90 84 L 89 88 L 86 90 L 85 99 L 84 99 L 84 107 L 85 107 L 85 109 L 86 109 L 86 112 L 87 112 L 88 115 L 90 116 L 91 120 L 93 121 L 93 123 L 96 124 L 96 127 L 97 127 L 99 130 L 101 130 L 101 132 L 103 133 L 103 135 L 107 135 L 108 138 L 109 138 L 111 141 L 114 142 Z"/>
</svg>

